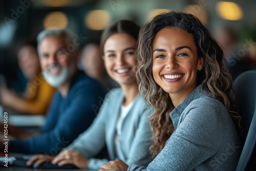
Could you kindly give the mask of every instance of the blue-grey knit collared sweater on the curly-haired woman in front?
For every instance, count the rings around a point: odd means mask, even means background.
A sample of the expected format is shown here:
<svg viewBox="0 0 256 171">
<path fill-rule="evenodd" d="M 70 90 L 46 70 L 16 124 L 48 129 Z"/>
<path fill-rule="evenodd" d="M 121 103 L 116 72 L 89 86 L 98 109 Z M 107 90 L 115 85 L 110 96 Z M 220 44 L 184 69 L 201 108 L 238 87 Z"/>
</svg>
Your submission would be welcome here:
<svg viewBox="0 0 256 171">
<path fill-rule="evenodd" d="M 239 138 L 225 106 L 201 85 L 171 113 L 175 131 L 147 167 L 131 170 L 236 170 Z"/>
</svg>

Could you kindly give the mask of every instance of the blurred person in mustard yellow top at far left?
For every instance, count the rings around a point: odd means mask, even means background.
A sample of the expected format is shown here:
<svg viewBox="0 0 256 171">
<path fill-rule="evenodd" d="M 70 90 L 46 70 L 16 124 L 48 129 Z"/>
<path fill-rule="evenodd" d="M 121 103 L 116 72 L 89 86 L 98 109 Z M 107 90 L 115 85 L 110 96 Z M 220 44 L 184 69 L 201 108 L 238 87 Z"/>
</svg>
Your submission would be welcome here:
<svg viewBox="0 0 256 171">
<path fill-rule="evenodd" d="M 20 96 L 2 84 L 0 104 L 22 114 L 45 115 L 55 89 L 41 74 L 36 40 L 26 40 L 18 50 L 17 59 L 20 70 L 28 80 L 25 93 Z"/>
</svg>

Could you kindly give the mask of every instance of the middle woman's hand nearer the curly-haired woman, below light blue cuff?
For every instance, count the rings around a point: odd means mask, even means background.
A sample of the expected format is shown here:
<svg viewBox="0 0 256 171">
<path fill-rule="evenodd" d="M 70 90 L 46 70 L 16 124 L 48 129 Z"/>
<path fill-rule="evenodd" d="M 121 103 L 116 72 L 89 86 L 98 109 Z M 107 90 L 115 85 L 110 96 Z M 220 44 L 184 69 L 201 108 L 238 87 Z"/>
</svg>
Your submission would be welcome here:
<svg viewBox="0 0 256 171">
<path fill-rule="evenodd" d="M 58 154 L 52 160 L 52 164 L 57 164 L 58 166 L 73 164 L 80 169 L 88 169 L 88 159 L 69 149 L 65 149 L 65 151 Z"/>
</svg>

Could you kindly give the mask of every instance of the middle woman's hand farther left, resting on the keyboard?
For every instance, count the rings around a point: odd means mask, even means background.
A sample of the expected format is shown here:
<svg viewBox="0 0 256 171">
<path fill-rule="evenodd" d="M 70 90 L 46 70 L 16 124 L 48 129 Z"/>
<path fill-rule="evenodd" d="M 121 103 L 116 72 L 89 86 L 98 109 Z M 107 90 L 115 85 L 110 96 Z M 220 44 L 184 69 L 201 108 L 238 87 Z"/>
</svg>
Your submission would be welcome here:
<svg viewBox="0 0 256 171">
<path fill-rule="evenodd" d="M 38 154 L 38 155 L 34 155 L 32 156 L 28 161 L 27 161 L 27 166 L 31 166 L 32 164 L 36 164 L 36 165 L 41 165 L 44 163 L 50 163 L 52 161 L 54 157 L 53 156 L 49 156 L 49 155 L 43 155 L 43 154 Z"/>
</svg>

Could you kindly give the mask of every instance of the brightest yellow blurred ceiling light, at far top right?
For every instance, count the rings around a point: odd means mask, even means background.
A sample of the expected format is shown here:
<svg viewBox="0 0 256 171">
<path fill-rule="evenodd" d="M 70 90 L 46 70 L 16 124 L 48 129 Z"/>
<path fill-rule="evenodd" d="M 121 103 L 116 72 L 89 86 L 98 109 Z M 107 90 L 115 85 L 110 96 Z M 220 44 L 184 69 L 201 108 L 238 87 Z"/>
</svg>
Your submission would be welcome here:
<svg viewBox="0 0 256 171">
<path fill-rule="evenodd" d="M 239 20 L 244 17 L 242 8 L 232 2 L 218 2 L 216 12 L 221 18 L 227 20 Z"/>
</svg>

